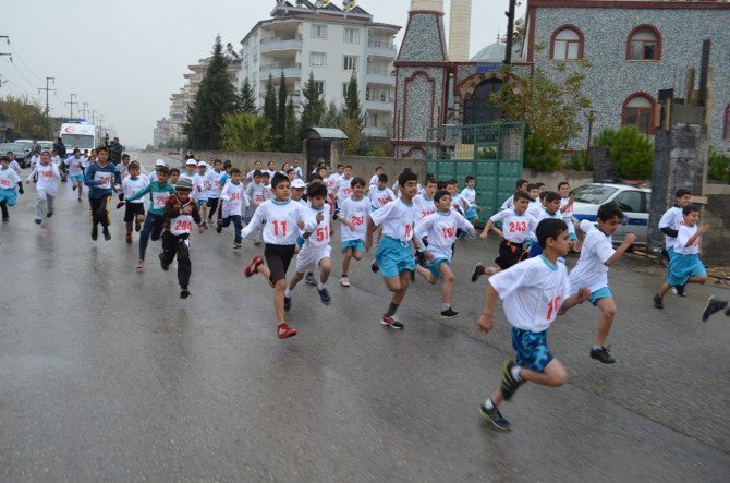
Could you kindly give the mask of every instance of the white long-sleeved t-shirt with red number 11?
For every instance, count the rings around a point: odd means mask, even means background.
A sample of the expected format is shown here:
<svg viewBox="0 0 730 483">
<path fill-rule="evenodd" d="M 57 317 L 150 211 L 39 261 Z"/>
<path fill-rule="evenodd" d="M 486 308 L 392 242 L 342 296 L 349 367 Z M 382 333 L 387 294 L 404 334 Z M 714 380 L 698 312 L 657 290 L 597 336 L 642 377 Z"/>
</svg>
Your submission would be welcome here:
<svg viewBox="0 0 730 483">
<path fill-rule="evenodd" d="M 241 230 L 241 236 L 246 238 L 258 228 L 264 220 L 264 242 L 270 245 L 293 245 L 300 236 L 299 221 L 304 221 L 304 231 L 313 231 L 317 221 L 311 214 L 312 209 L 301 203 L 287 200 L 265 201 L 254 213 L 248 225 Z"/>
</svg>

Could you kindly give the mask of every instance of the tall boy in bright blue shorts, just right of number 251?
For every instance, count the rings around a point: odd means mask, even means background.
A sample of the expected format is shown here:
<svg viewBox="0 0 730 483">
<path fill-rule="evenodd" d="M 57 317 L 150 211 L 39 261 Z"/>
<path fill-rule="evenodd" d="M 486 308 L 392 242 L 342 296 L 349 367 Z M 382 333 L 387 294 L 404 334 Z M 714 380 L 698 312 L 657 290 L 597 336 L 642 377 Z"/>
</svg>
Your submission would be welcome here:
<svg viewBox="0 0 730 483">
<path fill-rule="evenodd" d="M 400 198 L 370 213 L 365 236 L 365 249 L 369 250 L 373 246 L 373 232 L 382 226 L 384 238 L 378 245 L 375 264 L 382 273 L 386 287 L 393 297 L 390 306 L 380 317 L 380 324 L 398 330 L 403 328 L 403 324 L 396 315 L 396 311 L 403 302 L 411 282 L 411 274 L 415 268 L 410 242 L 413 241 L 418 252 L 424 252 L 421 240 L 413 232 L 413 224 L 416 220 L 413 197 L 416 195 L 417 182 L 418 177 L 410 170 L 404 170 L 398 177 Z"/>
</svg>

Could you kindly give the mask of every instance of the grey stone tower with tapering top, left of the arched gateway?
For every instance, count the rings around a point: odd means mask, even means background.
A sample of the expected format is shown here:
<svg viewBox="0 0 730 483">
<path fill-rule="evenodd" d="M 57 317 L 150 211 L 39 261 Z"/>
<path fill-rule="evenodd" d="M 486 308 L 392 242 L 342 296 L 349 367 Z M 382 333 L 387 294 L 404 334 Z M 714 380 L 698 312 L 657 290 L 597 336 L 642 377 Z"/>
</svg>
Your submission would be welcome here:
<svg viewBox="0 0 730 483">
<path fill-rule="evenodd" d="M 396 157 L 423 158 L 426 133 L 443 123 L 449 58 L 443 0 L 411 0 L 396 68 L 392 144 Z"/>
</svg>

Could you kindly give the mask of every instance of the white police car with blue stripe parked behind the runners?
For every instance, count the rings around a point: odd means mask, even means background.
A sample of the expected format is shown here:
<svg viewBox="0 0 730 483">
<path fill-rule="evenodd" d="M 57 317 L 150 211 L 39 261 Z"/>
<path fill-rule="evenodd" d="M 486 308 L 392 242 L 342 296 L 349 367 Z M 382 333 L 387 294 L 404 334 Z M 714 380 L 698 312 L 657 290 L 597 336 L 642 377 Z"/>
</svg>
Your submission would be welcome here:
<svg viewBox="0 0 730 483">
<path fill-rule="evenodd" d="M 623 219 L 613 233 L 613 241 L 620 243 L 626 233 L 634 233 L 635 244 L 646 244 L 652 190 L 641 183 L 591 183 L 576 188 L 572 194 L 573 217 L 579 220 L 595 221 L 600 205 L 608 202 L 618 203 L 623 210 Z"/>
</svg>

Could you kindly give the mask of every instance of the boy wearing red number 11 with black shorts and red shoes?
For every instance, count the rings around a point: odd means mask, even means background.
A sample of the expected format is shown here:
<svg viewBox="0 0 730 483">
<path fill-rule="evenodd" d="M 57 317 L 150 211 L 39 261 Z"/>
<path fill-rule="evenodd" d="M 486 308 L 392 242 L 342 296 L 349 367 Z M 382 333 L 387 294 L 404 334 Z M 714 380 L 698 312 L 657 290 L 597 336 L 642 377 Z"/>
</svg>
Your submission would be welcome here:
<svg viewBox="0 0 730 483">
<path fill-rule="evenodd" d="M 255 274 L 260 274 L 266 282 L 273 288 L 277 337 L 280 339 L 296 335 L 296 329 L 290 327 L 284 319 L 287 270 L 294 256 L 296 238 L 300 230 L 312 232 L 324 219 L 324 215 L 312 218 L 309 208 L 292 202 L 289 190 L 289 179 L 283 174 L 275 176 L 271 182 L 273 197 L 258 206 L 251 222 L 241 231 L 241 236 L 246 238 L 266 220 L 264 226 L 264 258 L 259 255 L 254 256 L 244 275 L 252 277 Z"/>
</svg>

